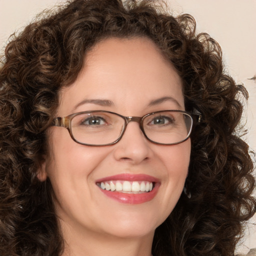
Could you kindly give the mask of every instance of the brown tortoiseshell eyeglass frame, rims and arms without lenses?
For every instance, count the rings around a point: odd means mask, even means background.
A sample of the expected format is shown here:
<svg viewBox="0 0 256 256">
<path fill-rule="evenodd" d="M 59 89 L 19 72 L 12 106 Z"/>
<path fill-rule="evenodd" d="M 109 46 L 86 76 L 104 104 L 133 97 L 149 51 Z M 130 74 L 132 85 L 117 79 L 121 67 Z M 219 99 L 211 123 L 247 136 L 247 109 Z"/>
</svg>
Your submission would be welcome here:
<svg viewBox="0 0 256 256">
<path fill-rule="evenodd" d="M 181 140 L 181 141 L 178 141 L 178 142 L 175 142 L 175 143 L 168 143 L 168 144 L 165 144 L 165 143 L 160 143 L 160 142 L 156 142 L 156 141 L 153 141 L 151 140 L 150 138 L 147 137 L 144 129 L 143 129 L 143 120 L 148 116 L 148 115 L 152 115 L 152 114 L 155 114 L 155 113 L 160 113 L 160 112 L 166 112 L 166 111 L 170 111 L 170 112 L 179 112 L 179 113 L 183 113 L 183 114 L 186 114 L 188 115 L 190 118 L 191 118 L 191 127 L 188 131 L 188 134 L 187 136 L 185 137 L 185 139 Z M 111 143 L 107 143 L 107 144 L 87 144 L 87 143 L 83 143 L 83 142 L 80 142 L 78 140 L 76 140 L 72 134 L 72 128 L 71 128 L 71 120 L 74 116 L 78 115 L 78 114 L 82 114 L 82 113 L 93 113 L 93 112 L 106 112 L 106 113 L 111 113 L 111 114 L 115 114 L 115 115 L 118 115 L 120 116 L 122 119 L 124 119 L 124 126 L 122 128 L 122 131 L 120 133 L 120 136 L 113 142 Z M 194 117 L 196 117 L 195 119 L 195 122 L 200 122 L 201 120 L 201 114 L 200 113 L 190 113 L 190 112 L 187 112 L 187 111 L 183 111 L 183 110 L 173 110 L 173 109 L 170 109 L 170 110 L 160 110 L 160 111 L 155 111 L 155 112 L 151 112 L 151 113 L 147 113 L 141 117 L 139 116 L 124 116 L 124 115 L 121 115 L 121 114 L 118 114 L 118 113 L 115 113 L 115 112 L 111 112 L 111 111 L 106 111 L 106 110 L 91 110 L 91 111 L 82 111 L 82 112 L 77 112 L 77 113 L 73 113 L 73 114 L 69 114 L 67 116 L 62 116 L 62 117 L 55 117 L 52 119 L 52 123 L 51 123 L 51 126 L 58 126 L 58 127 L 65 127 L 68 132 L 69 132 L 69 135 L 71 136 L 71 138 L 78 144 L 81 144 L 81 145 L 86 145 L 86 146 L 107 146 L 107 145 L 113 145 L 115 143 L 117 143 L 123 136 L 125 130 L 126 130 L 126 127 L 127 127 L 127 124 L 129 122 L 137 122 L 139 124 L 139 128 L 141 129 L 141 131 L 143 132 L 144 136 L 146 137 L 147 140 L 149 140 L 150 142 L 154 143 L 154 144 L 159 144 L 159 145 L 176 145 L 176 144 L 179 144 L 179 143 L 182 143 L 184 142 L 185 140 L 187 140 L 191 134 L 191 131 L 192 131 L 192 127 L 194 125 Z"/>
</svg>

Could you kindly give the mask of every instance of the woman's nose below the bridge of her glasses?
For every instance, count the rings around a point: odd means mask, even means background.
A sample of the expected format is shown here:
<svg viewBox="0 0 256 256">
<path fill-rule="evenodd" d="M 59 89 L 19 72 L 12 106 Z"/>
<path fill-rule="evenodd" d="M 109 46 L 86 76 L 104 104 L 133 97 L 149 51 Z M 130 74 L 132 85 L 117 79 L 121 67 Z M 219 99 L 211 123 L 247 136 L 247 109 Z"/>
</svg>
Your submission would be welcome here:
<svg viewBox="0 0 256 256">
<path fill-rule="evenodd" d="M 152 156 L 151 142 L 146 139 L 139 123 L 132 121 L 126 126 L 125 132 L 118 143 L 115 144 L 114 158 L 132 164 L 139 164 L 149 160 Z"/>
</svg>

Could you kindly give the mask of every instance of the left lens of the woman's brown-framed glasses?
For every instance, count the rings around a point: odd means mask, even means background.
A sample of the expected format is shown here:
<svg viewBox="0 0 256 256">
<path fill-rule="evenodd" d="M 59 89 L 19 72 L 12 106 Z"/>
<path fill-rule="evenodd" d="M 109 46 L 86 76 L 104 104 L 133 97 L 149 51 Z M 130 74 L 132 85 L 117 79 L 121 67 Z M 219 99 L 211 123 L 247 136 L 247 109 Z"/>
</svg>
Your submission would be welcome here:
<svg viewBox="0 0 256 256">
<path fill-rule="evenodd" d="M 75 140 L 88 145 L 105 145 L 114 142 L 124 128 L 125 120 L 109 112 L 85 112 L 71 120 Z"/>
</svg>

